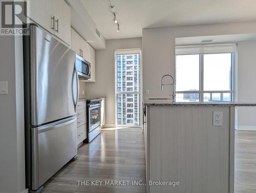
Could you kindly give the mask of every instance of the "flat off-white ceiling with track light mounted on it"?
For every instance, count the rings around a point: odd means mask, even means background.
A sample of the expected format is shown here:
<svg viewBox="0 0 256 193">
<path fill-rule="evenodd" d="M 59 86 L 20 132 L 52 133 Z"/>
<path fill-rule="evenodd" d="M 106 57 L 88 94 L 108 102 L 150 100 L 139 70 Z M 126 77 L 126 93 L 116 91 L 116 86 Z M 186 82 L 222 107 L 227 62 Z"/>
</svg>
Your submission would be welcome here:
<svg viewBox="0 0 256 193">
<path fill-rule="evenodd" d="M 141 37 L 142 28 L 256 20 L 256 0 L 80 0 L 106 39 Z"/>
</svg>

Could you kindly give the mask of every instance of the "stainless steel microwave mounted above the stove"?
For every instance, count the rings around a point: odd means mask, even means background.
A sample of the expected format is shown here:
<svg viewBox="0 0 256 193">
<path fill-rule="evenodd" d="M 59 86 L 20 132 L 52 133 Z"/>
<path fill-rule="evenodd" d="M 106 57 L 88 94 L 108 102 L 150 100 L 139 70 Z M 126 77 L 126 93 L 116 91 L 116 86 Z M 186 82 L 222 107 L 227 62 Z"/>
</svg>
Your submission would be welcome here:
<svg viewBox="0 0 256 193">
<path fill-rule="evenodd" d="M 76 55 L 76 69 L 79 79 L 91 78 L 91 63 Z"/>
</svg>

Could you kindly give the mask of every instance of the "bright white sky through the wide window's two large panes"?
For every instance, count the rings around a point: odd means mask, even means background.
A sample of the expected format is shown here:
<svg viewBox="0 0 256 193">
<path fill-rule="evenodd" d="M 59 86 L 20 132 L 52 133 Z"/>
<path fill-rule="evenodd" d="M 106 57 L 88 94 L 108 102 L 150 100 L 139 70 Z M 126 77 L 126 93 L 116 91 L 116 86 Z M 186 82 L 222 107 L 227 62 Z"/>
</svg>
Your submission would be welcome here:
<svg viewBox="0 0 256 193">
<path fill-rule="evenodd" d="M 231 54 L 204 55 L 204 91 L 230 90 Z M 199 55 L 176 56 L 176 91 L 199 91 Z"/>
</svg>

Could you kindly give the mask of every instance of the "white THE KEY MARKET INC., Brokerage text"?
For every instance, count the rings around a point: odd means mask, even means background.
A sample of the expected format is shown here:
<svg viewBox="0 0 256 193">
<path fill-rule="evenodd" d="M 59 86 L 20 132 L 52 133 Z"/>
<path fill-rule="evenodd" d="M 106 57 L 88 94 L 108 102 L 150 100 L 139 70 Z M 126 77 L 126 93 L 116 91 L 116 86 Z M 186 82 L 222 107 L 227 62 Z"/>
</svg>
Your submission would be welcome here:
<svg viewBox="0 0 256 193">
<path fill-rule="evenodd" d="M 77 180 L 79 186 L 146 186 L 142 180 Z M 179 186 L 179 181 L 148 181 L 148 186 Z"/>
</svg>

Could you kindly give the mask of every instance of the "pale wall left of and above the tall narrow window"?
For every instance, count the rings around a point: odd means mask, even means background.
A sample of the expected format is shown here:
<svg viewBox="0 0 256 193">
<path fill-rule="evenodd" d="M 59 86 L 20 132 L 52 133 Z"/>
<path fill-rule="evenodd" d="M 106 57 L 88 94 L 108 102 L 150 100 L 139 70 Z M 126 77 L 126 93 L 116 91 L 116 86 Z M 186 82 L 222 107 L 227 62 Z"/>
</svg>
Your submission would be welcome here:
<svg viewBox="0 0 256 193">
<path fill-rule="evenodd" d="M 95 51 L 96 81 L 86 83 L 86 97 L 106 97 L 106 124 L 115 124 L 115 50 L 141 47 L 141 38 L 110 39 Z"/>
</svg>

